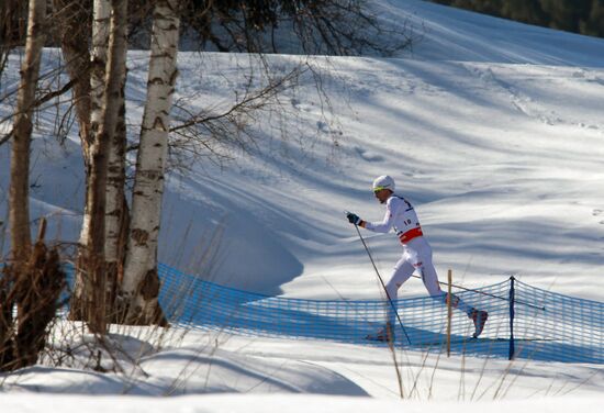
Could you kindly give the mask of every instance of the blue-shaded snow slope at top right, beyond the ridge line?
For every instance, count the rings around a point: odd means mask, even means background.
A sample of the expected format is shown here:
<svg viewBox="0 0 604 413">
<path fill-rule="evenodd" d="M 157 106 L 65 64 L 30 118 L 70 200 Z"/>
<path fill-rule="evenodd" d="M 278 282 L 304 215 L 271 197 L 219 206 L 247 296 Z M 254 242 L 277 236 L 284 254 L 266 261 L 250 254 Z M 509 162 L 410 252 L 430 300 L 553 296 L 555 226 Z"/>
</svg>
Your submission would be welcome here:
<svg viewBox="0 0 604 413">
<path fill-rule="evenodd" d="M 406 22 L 426 60 L 602 67 L 602 40 L 552 31 L 418 0 L 378 1 L 385 22 Z"/>
</svg>

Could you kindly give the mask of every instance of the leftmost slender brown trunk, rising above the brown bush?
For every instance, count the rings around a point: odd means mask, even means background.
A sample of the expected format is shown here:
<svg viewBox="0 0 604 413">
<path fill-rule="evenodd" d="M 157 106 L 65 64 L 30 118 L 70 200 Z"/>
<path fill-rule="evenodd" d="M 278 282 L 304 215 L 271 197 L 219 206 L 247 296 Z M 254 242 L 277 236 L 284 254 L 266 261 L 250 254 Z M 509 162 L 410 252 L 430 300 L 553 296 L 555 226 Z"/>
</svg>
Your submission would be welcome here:
<svg viewBox="0 0 604 413">
<path fill-rule="evenodd" d="M 30 233 L 30 147 L 32 141 L 32 115 L 35 90 L 40 76 L 40 60 L 44 46 L 46 0 L 30 0 L 25 58 L 21 66 L 21 85 L 16 100 L 14 131 L 11 154 L 11 186 L 9 221 L 11 224 L 11 248 L 15 269 L 29 259 L 32 246 Z"/>
</svg>

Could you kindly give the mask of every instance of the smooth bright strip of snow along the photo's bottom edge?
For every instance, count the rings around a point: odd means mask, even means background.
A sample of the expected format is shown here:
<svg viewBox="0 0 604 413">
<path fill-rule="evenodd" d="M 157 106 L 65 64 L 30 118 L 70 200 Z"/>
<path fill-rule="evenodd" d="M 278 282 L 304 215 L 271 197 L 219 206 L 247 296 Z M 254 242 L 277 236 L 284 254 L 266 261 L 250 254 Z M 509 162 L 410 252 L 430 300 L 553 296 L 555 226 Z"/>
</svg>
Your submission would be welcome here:
<svg viewBox="0 0 604 413">
<path fill-rule="evenodd" d="M 40 395 L 30 395 L 27 402 L 19 395 L 2 398 L 2 408 L 9 412 L 36 413 L 40 409 L 53 409 L 55 412 L 79 411 L 87 412 L 112 411 L 115 413 L 205 413 L 205 412 L 267 412 L 287 411 L 291 413 L 332 413 L 332 412 L 399 412 L 404 409 L 409 413 L 424 413 L 429 409 L 434 413 L 447 413 L 451 409 L 468 413 L 482 413 L 489 410 L 493 413 L 518 412 L 556 412 L 578 409 L 582 412 L 596 412 L 602 401 L 600 399 L 567 398 L 541 399 L 532 402 L 504 401 L 499 403 L 430 403 L 400 402 L 358 399 L 358 398 L 324 398 L 311 395 L 203 395 L 183 397 L 178 399 L 141 399 L 132 397 L 120 398 L 85 398 L 85 397 L 54 397 L 52 400 Z"/>
</svg>

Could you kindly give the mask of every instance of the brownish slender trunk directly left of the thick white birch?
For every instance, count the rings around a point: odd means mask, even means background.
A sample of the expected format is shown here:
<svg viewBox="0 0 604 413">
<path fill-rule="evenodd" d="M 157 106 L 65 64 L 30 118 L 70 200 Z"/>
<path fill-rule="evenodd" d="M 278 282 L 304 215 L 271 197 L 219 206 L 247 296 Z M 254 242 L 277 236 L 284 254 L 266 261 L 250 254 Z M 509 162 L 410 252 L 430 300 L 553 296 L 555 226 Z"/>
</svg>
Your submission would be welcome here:
<svg viewBox="0 0 604 413">
<path fill-rule="evenodd" d="M 87 245 L 87 270 L 90 281 L 86 283 L 88 304 L 85 320 L 89 321 L 92 331 L 99 334 L 107 332 L 107 322 L 113 308 L 114 280 L 108 279 L 105 272 L 105 210 L 109 148 L 115 134 L 121 105 L 120 93 L 125 76 L 125 48 L 127 24 L 127 0 L 111 1 L 111 32 L 105 72 L 105 91 L 102 104 L 102 119 L 92 145 L 92 161 L 88 189 L 90 208 L 89 233 Z"/>
</svg>

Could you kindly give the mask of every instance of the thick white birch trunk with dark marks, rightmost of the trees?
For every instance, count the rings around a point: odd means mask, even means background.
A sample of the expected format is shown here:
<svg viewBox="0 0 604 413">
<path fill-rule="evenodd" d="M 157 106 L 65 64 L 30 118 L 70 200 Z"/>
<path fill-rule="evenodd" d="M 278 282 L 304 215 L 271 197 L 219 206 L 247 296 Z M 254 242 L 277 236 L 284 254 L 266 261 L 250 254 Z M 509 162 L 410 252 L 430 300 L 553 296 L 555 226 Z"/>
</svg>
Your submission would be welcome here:
<svg viewBox="0 0 604 413">
<path fill-rule="evenodd" d="M 167 324 L 158 303 L 157 238 L 176 83 L 178 1 L 158 0 L 154 9 L 147 99 L 136 159 L 123 299 L 126 323 Z"/>
</svg>

